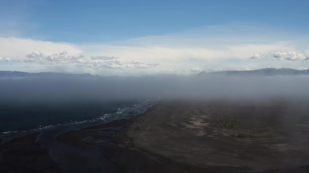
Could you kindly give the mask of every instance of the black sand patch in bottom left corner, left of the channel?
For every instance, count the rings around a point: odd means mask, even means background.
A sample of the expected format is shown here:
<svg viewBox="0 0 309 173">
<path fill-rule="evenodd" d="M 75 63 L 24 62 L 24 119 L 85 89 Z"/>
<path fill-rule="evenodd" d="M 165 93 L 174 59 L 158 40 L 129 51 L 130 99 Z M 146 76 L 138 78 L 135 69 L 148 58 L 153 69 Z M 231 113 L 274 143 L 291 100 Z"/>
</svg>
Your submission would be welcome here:
<svg viewBox="0 0 309 173">
<path fill-rule="evenodd" d="M 48 149 L 35 143 L 38 135 L 15 138 L 0 146 L 0 172 L 61 172 Z"/>
</svg>

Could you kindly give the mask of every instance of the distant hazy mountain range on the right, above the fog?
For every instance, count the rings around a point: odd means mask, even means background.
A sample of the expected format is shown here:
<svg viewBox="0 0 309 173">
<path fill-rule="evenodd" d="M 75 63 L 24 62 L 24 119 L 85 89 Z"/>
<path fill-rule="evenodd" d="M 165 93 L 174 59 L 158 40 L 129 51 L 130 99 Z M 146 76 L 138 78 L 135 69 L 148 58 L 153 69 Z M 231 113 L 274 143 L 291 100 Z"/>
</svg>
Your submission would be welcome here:
<svg viewBox="0 0 309 173">
<path fill-rule="evenodd" d="M 264 68 L 258 70 L 246 70 L 246 71 L 237 71 L 237 70 L 229 70 L 229 71 L 218 71 L 218 72 L 205 72 L 202 71 L 198 74 L 198 76 L 204 75 L 234 75 L 234 76 L 277 76 L 277 75 L 309 75 L 309 70 L 295 70 L 290 68 Z"/>
</svg>

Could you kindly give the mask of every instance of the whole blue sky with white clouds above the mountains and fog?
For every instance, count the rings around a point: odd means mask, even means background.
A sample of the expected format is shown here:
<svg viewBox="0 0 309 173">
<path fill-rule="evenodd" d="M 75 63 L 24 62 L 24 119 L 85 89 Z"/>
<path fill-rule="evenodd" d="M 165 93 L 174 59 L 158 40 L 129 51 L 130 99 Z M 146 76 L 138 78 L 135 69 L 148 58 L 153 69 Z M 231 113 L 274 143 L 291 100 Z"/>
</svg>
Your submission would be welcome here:
<svg viewBox="0 0 309 173">
<path fill-rule="evenodd" d="M 308 5 L 1 1 L 0 69 L 105 75 L 304 69 Z"/>
</svg>

